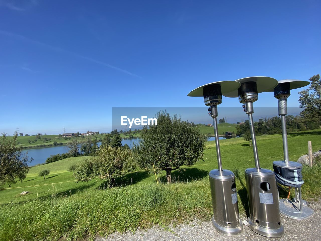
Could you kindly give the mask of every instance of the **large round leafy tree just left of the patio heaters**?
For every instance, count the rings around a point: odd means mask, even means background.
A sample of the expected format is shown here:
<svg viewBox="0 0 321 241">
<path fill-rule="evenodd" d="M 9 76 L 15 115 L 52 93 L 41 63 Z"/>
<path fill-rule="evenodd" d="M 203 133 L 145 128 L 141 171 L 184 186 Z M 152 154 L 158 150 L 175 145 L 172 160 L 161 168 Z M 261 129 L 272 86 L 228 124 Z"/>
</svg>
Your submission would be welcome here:
<svg viewBox="0 0 321 241">
<path fill-rule="evenodd" d="M 172 170 L 193 165 L 203 157 L 207 136 L 166 111 L 158 112 L 155 118 L 157 125 L 144 126 L 140 142 L 133 147 L 135 159 L 141 168 L 151 169 L 154 163 L 156 168 L 165 170 L 167 182 L 171 183 Z"/>
</svg>

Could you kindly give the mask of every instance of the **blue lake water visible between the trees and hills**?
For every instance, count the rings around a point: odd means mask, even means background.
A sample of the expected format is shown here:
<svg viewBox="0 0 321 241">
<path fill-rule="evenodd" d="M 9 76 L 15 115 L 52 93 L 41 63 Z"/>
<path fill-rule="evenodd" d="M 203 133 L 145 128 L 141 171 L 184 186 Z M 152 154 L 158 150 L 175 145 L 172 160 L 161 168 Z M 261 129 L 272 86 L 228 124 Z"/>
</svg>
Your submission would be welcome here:
<svg viewBox="0 0 321 241">
<path fill-rule="evenodd" d="M 219 139 L 225 139 L 224 137 L 219 137 Z M 133 142 L 137 143 L 140 140 L 140 138 L 133 138 L 133 139 L 123 139 L 122 140 L 122 145 L 124 146 L 127 144 L 130 148 L 133 147 Z M 215 137 L 209 137 L 209 141 L 215 140 Z M 100 146 L 101 142 L 97 143 L 98 146 Z M 62 154 L 65 152 L 68 152 L 68 147 L 67 146 L 57 146 L 57 147 L 41 147 L 41 148 L 34 148 L 34 149 L 24 149 L 22 153 L 28 152 L 28 156 L 33 158 L 33 161 L 29 163 L 30 166 L 37 165 L 40 163 L 44 163 L 46 159 L 50 155 L 57 155 L 57 154 Z"/>
</svg>

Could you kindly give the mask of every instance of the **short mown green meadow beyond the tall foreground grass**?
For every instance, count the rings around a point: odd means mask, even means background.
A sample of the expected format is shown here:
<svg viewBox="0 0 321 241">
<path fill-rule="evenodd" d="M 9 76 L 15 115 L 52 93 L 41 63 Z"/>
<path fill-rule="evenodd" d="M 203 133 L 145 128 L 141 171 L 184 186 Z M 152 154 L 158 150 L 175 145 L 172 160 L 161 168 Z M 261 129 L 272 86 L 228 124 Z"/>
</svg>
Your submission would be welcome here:
<svg viewBox="0 0 321 241">
<path fill-rule="evenodd" d="M 299 156 L 306 154 L 308 149 L 308 140 L 312 141 L 313 151 L 321 149 L 320 137 L 321 129 L 289 133 L 288 141 L 290 160 L 297 161 Z M 220 145 L 223 168 L 232 170 L 234 168 L 246 169 L 247 167 L 254 166 L 253 149 L 248 146 L 248 142 L 244 141 L 243 138 L 220 140 Z M 272 162 L 274 160 L 282 160 L 283 158 L 282 135 L 258 136 L 257 148 L 261 167 L 272 169 Z M 32 167 L 27 178 L 22 183 L 16 183 L 11 186 L 21 188 L 0 191 L 0 203 L 4 204 L 30 200 L 37 197 L 50 196 L 56 192 L 63 193 L 69 192 L 70 190 L 76 190 L 80 187 L 82 188 L 83 185 L 87 185 L 87 183 L 59 182 L 74 180 L 73 174 L 68 172 L 67 169 L 71 164 L 77 164 L 84 158 L 86 157 L 71 157 L 53 163 Z M 206 143 L 204 161 L 196 163 L 195 166 L 183 167 L 181 170 L 173 171 L 173 179 L 181 181 L 187 181 L 190 179 L 207 179 L 208 172 L 215 168 L 217 168 L 215 142 L 209 141 Z M 44 169 L 50 170 L 50 174 L 46 180 L 44 180 L 43 177 L 38 177 L 38 173 Z M 155 182 L 155 176 L 147 172 L 137 172 L 133 173 L 133 175 L 128 174 L 125 180 L 119 180 L 119 182 L 121 184 L 131 184 L 132 177 L 133 183 Z M 160 179 L 164 179 L 165 172 L 158 174 L 158 177 Z M 23 188 L 23 186 L 41 185 L 46 183 L 58 184 Z M 89 186 L 97 188 L 101 183 L 102 181 L 97 178 L 96 181 L 91 181 Z M 26 196 L 20 196 L 19 193 L 22 191 L 29 191 L 30 193 Z"/>
</svg>

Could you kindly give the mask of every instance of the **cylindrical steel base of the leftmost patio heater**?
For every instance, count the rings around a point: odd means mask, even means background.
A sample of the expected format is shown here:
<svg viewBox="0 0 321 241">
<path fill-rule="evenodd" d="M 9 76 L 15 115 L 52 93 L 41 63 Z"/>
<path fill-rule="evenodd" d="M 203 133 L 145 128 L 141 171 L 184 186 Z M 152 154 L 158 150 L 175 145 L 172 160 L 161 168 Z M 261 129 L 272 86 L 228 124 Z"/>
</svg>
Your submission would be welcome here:
<svg viewBox="0 0 321 241">
<path fill-rule="evenodd" d="M 216 231 L 228 235 L 239 235 L 243 223 L 239 219 L 238 196 L 235 176 L 229 170 L 212 170 L 209 173 L 213 205 L 213 227 Z"/>
</svg>

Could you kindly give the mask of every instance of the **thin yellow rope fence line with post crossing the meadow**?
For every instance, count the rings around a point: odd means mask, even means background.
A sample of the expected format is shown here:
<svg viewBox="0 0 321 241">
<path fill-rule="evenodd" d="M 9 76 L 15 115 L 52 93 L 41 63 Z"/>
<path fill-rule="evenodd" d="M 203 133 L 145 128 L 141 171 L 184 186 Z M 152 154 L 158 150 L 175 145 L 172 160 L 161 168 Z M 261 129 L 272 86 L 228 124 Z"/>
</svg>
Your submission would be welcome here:
<svg viewBox="0 0 321 241">
<path fill-rule="evenodd" d="M 305 154 L 303 154 L 305 155 Z M 292 155 L 292 156 L 302 156 L 302 154 L 299 155 Z M 277 157 L 270 157 L 271 159 L 274 158 L 280 158 L 283 156 L 277 156 Z M 154 164 L 153 164 L 154 165 Z M 192 165 L 192 166 L 171 166 L 171 168 L 176 168 L 176 167 L 193 167 L 193 166 L 204 166 L 204 165 L 208 165 L 208 164 L 201 164 L 201 165 Z M 92 177 L 92 178 L 84 178 L 84 179 L 78 179 L 78 180 L 71 180 L 71 181 L 64 181 L 64 182 L 58 182 L 58 183 L 46 183 L 46 184 L 39 184 L 39 185 L 31 185 L 31 186 L 23 186 L 23 187 L 8 187 L 8 188 L 0 188 L 0 190 L 7 190 L 7 189 L 17 189 L 17 188 L 26 188 L 26 187 L 38 187 L 38 186 L 45 186 L 45 185 L 53 185 L 53 184 L 60 184 L 60 183 L 69 183 L 69 182 L 79 182 L 79 181 L 84 181 L 84 180 L 92 180 L 92 179 L 97 179 L 97 178 L 104 178 L 104 177 L 111 177 L 111 176 L 118 176 L 118 175 L 125 175 L 125 174 L 133 174 L 136 172 L 146 172 L 146 171 L 154 171 L 156 169 L 163 169 L 163 167 L 154 167 L 151 169 L 144 169 L 144 170 L 138 170 L 138 171 L 134 171 L 134 172 L 127 172 L 127 173 L 120 173 L 120 174 L 111 174 L 111 175 L 106 175 L 106 176 L 97 176 L 97 177 Z M 155 172 L 155 176 L 156 176 L 156 172 Z M 156 177 L 157 180 L 157 177 Z M 157 181 L 158 184 L 158 181 Z"/>
</svg>

